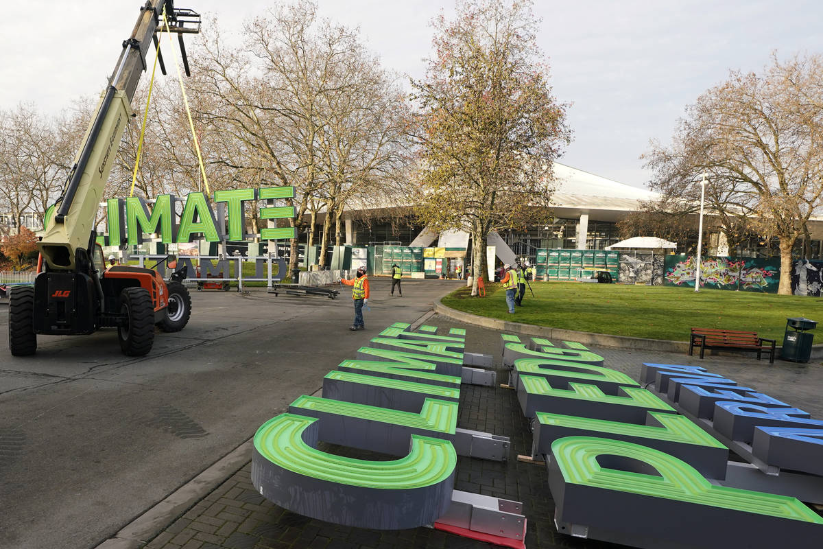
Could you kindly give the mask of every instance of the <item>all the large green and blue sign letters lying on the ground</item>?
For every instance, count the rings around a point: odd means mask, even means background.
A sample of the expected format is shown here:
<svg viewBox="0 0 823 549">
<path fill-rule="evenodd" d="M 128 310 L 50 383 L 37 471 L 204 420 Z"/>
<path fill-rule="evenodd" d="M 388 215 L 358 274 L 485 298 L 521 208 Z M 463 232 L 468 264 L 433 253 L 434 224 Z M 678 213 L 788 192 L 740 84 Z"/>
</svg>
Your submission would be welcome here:
<svg viewBox="0 0 823 549">
<path fill-rule="evenodd" d="M 260 427 L 252 482 L 261 494 L 295 513 L 381 529 L 438 527 L 471 500 L 453 490 L 457 456 L 472 455 L 461 437 L 475 437 L 472 444 L 493 437 L 457 427 L 460 376 L 465 384 L 472 354 L 465 333 L 408 328 L 388 327 L 323 379 L 322 397 L 301 396 Z M 699 366 L 643 365 L 641 386 L 576 342 L 503 334 L 501 343 L 509 386 L 532 418 L 532 458 L 546 461 L 560 533 L 655 549 L 786 540 L 816 547 L 823 538 L 823 519 L 802 503 L 817 495 L 807 499 L 775 482 L 774 472 L 729 460 L 729 447 L 747 458 L 737 437 L 815 485 L 823 480 L 816 465 L 823 422 Z M 684 398 L 695 415 L 679 413 Z M 721 434 L 700 418 L 709 408 Z M 398 459 L 344 458 L 319 442 Z M 524 519 L 518 528 L 511 542 L 523 542 Z"/>
</svg>

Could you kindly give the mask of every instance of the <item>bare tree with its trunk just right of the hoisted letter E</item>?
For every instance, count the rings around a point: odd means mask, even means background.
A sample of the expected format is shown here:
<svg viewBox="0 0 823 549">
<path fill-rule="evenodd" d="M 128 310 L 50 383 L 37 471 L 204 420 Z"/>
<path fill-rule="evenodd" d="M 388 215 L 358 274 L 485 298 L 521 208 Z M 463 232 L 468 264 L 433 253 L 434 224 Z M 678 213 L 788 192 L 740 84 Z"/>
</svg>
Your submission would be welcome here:
<svg viewBox="0 0 823 549">
<path fill-rule="evenodd" d="M 198 109 L 198 117 L 260 159 L 262 181 L 295 187 L 289 223 L 297 235 L 318 187 L 317 133 L 325 123 L 319 96 L 329 91 L 333 65 L 353 40 L 328 24 L 315 31 L 314 23 L 314 5 L 301 2 L 251 21 L 244 49 L 227 49 L 215 33 L 196 79 L 198 93 L 215 105 Z M 294 238 L 290 270 L 297 255 Z"/>
</svg>

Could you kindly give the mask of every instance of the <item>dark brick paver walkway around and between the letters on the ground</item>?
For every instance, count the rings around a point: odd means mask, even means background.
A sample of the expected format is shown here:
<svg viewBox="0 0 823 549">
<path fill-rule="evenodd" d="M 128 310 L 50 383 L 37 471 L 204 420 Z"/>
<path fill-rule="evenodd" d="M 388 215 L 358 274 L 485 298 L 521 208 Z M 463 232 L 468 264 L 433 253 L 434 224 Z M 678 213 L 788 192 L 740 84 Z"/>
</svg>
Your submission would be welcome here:
<svg viewBox="0 0 823 549">
<path fill-rule="evenodd" d="M 498 380 L 504 383 L 508 373 L 500 370 L 499 333 L 458 323 L 442 316 L 426 323 L 441 328 L 466 328 L 467 351 L 489 353 L 495 357 Z M 789 362 L 757 361 L 752 356 L 698 357 L 628 351 L 593 349 L 605 358 L 605 365 L 621 370 L 635 379 L 643 362 L 703 365 L 709 371 L 727 375 L 801 407 L 813 417 L 823 417 L 819 398 L 823 387 L 823 368 L 819 364 L 797 365 Z M 341 360 L 353 357 L 342 356 Z M 297 398 L 299 395 L 294 395 Z M 565 536 L 556 532 L 552 516 L 554 502 L 547 484 L 546 469 L 518 462 L 517 454 L 529 454 L 531 434 L 518 407 L 513 390 L 500 387 L 463 385 L 461 388 L 458 426 L 506 435 L 511 438 L 508 463 L 458 458 L 455 488 L 523 502 L 528 519 L 526 547 L 622 547 L 604 542 Z M 400 531 L 377 531 L 348 528 L 293 514 L 263 499 L 250 479 L 251 464 L 235 472 L 205 499 L 189 509 L 163 533 L 146 545 L 147 549 L 389 549 L 424 547 L 479 548 L 494 547 L 430 528 Z"/>
</svg>

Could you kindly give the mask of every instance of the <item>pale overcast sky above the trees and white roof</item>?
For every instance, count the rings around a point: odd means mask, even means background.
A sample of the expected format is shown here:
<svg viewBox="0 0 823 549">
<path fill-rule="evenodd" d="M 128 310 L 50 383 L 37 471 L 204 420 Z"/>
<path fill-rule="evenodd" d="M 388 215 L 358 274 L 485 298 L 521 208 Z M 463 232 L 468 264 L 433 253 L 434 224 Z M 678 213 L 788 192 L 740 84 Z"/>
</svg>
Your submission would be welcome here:
<svg viewBox="0 0 823 549">
<path fill-rule="evenodd" d="M 175 2 L 218 16 L 224 36 L 274 4 Z M 56 114 L 77 98 L 99 95 L 141 5 L 6 2 L 0 109 L 31 102 Z M 359 26 L 385 67 L 415 78 L 430 56 L 429 23 L 441 9 L 453 13 L 453 1 L 319 0 L 321 16 Z M 669 142 L 684 107 L 725 80 L 729 69 L 759 71 L 773 50 L 781 58 L 823 50 L 819 0 L 536 0 L 535 12 L 542 17 L 537 40 L 549 58 L 555 94 L 573 104 L 568 122 L 574 142 L 560 161 L 638 187 L 649 179 L 638 158 L 649 139 Z"/>
</svg>

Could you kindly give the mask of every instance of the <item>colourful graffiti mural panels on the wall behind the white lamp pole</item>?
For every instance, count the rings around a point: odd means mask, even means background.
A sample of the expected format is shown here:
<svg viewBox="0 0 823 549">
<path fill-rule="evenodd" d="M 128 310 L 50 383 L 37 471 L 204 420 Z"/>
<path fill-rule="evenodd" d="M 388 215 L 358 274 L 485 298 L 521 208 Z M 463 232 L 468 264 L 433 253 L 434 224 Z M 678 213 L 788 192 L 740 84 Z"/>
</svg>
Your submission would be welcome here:
<svg viewBox="0 0 823 549">
<path fill-rule="evenodd" d="M 776 293 L 780 279 L 779 261 L 778 258 L 703 258 L 700 268 L 701 286 L 719 290 Z M 667 255 L 663 270 L 663 282 L 666 286 L 695 287 L 693 256 Z"/>
</svg>

